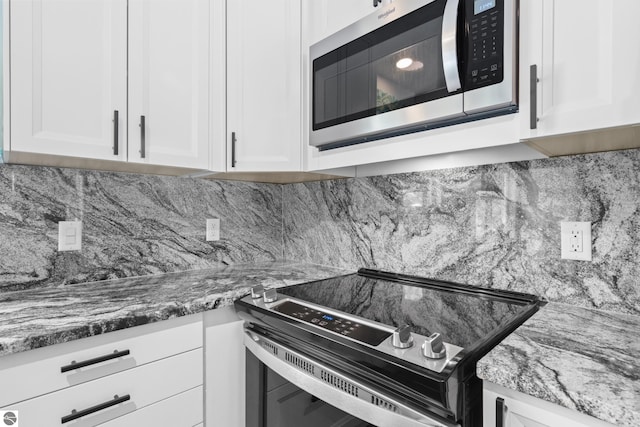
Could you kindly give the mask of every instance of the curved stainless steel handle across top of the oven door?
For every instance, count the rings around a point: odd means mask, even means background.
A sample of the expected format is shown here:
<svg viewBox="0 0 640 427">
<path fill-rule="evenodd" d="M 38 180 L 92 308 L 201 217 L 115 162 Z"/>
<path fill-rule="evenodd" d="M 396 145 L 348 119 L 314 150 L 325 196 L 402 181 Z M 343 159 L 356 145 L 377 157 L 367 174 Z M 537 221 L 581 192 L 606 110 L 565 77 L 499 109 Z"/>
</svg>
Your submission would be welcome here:
<svg viewBox="0 0 640 427">
<path fill-rule="evenodd" d="M 459 427 L 435 420 L 282 344 L 245 330 L 245 347 L 269 369 L 319 398 L 379 427 Z"/>
</svg>

